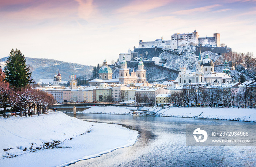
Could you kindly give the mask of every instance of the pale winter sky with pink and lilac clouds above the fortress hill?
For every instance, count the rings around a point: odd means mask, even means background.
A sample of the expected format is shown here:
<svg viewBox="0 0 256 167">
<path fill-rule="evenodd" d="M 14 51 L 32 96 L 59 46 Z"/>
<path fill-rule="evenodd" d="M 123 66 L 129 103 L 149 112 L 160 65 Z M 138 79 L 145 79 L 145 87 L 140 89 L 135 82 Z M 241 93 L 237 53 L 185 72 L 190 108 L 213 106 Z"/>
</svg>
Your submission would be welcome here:
<svg viewBox="0 0 256 167">
<path fill-rule="evenodd" d="M 25 57 L 96 66 L 140 39 L 194 30 L 256 55 L 255 18 L 256 0 L 0 0 L 0 58 L 18 48 Z"/>
</svg>

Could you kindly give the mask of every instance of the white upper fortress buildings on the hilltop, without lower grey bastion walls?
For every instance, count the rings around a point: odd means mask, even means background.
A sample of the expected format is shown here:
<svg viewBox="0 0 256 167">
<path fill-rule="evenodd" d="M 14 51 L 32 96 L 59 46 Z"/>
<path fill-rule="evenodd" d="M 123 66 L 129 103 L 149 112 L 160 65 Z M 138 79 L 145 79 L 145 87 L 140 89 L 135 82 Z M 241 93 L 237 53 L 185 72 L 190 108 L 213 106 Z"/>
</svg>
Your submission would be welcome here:
<svg viewBox="0 0 256 167">
<path fill-rule="evenodd" d="M 161 47 L 165 49 L 177 49 L 179 46 L 197 46 L 198 44 L 204 47 L 220 47 L 220 35 L 215 33 L 213 34 L 213 37 L 210 38 L 207 36 L 205 38 L 199 38 L 199 35 L 195 30 L 194 32 L 187 34 L 173 34 L 171 40 L 163 40 L 163 36 L 162 39 L 157 39 L 152 42 L 143 42 L 143 40 L 140 39 L 138 48 Z"/>
</svg>

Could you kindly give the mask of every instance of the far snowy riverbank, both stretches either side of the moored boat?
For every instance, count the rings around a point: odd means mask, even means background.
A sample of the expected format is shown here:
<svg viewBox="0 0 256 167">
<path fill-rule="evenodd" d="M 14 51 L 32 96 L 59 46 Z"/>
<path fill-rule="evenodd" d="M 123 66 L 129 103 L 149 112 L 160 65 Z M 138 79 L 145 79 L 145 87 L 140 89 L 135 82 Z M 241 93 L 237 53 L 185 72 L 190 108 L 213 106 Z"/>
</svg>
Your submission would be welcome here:
<svg viewBox="0 0 256 167">
<path fill-rule="evenodd" d="M 186 117 L 186 118 L 256 122 L 255 109 L 143 107 L 142 110 L 154 111 L 156 113 L 156 116 L 165 116 L 165 117 Z M 113 107 L 113 106 L 102 106 L 102 107 L 93 106 L 80 113 L 132 115 L 132 111 L 129 109 L 121 108 L 121 107 Z"/>
</svg>

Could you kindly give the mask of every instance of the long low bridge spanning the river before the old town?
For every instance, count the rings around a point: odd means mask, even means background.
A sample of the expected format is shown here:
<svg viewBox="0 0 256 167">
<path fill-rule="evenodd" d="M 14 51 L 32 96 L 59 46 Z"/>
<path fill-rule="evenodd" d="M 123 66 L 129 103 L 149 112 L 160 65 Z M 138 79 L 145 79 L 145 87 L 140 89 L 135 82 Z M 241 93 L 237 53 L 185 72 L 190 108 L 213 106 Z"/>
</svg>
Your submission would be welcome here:
<svg viewBox="0 0 256 167">
<path fill-rule="evenodd" d="M 74 106 L 76 107 L 76 110 L 86 110 L 90 108 L 90 106 L 119 106 L 119 107 L 137 107 L 137 109 L 141 109 L 143 106 L 138 105 L 125 105 L 125 104 L 114 104 L 114 103 L 65 103 L 65 104 L 53 104 L 49 106 L 49 109 L 56 108 L 60 111 L 66 111 L 66 110 L 73 110 Z"/>
</svg>

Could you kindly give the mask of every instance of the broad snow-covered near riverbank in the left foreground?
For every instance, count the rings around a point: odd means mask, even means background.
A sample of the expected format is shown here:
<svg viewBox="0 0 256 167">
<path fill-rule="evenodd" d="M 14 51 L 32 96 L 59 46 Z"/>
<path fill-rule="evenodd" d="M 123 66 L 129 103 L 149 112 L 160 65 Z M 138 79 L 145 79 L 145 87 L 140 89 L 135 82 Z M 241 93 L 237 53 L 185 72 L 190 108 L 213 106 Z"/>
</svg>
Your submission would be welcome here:
<svg viewBox="0 0 256 167">
<path fill-rule="evenodd" d="M 62 166 L 133 145 L 138 137 L 121 125 L 88 123 L 62 112 L 0 118 L 0 127 L 3 167 Z"/>
</svg>

